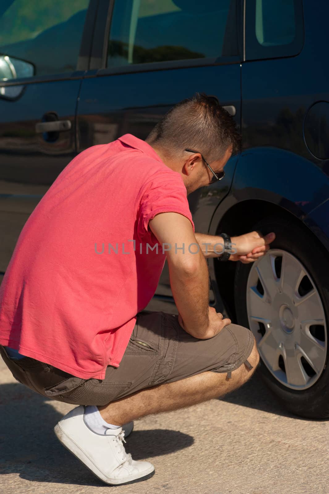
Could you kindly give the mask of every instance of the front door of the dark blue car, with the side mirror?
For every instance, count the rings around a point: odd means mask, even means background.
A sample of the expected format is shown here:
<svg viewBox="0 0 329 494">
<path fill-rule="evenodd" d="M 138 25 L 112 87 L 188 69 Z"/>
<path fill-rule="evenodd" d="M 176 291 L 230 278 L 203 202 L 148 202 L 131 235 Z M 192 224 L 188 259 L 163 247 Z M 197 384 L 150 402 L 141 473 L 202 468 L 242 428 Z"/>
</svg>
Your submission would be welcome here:
<svg viewBox="0 0 329 494">
<path fill-rule="evenodd" d="M 0 281 L 27 218 L 76 154 L 88 3 L 0 4 Z"/>
</svg>

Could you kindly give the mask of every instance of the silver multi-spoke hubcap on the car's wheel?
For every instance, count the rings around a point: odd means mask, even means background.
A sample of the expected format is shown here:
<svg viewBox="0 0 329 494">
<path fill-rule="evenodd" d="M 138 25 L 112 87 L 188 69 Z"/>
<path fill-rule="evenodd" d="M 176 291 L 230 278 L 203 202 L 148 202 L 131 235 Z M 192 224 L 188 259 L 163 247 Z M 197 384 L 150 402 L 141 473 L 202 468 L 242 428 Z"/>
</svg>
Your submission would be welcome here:
<svg viewBox="0 0 329 494">
<path fill-rule="evenodd" d="M 326 318 L 314 282 L 296 257 L 270 249 L 253 263 L 247 314 L 259 355 L 274 377 L 291 389 L 312 386 L 326 363 Z"/>
</svg>

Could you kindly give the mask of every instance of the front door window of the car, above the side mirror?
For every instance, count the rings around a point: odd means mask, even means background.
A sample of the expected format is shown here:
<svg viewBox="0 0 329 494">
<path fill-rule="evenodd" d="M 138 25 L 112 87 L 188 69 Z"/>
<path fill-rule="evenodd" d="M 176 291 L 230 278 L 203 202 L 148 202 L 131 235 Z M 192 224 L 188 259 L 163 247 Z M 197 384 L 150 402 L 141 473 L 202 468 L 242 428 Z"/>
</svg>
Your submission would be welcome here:
<svg viewBox="0 0 329 494">
<path fill-rule="evenodd" d="M 89 0 L 0 2 L 0 80 L 76 69 Z"/>
</svg>

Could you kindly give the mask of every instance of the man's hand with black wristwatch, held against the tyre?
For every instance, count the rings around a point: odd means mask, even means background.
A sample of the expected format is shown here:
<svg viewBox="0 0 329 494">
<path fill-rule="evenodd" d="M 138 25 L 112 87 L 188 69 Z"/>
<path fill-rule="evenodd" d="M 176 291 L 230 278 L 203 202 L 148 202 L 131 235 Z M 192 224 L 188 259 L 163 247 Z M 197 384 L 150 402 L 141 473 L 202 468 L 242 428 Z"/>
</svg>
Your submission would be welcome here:
<svg viewBox="0 0 329 494">
<path fill-rule="evenodd" d="M 259 232 L 250 232 L 239 237 L 232 237 L 231 241 L 236 250 L 236 254 L 231 254 L 229 261 L 241 261 L 244 264 L 253 262 L 258 257 L 266 254 L 270 248 L 270 243 L 275 239 L 275 233 L 268 233 L 263 236 Z"/>
</svg>

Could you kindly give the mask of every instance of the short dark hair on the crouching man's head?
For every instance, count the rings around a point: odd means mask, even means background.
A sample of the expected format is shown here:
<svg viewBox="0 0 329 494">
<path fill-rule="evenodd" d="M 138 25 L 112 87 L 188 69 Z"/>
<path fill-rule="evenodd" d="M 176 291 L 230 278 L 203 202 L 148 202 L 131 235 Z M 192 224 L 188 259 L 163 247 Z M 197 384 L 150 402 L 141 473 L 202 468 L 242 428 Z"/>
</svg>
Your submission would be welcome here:
<svg viewBox="0 0 329 494">
<path fill-rule="evenodd" d="M 173 106 L 150 132 L 146 141 L 172 152 L 199 151 L 209 162 L 220 160 L 232 147 L 241 151 L 241 135 L 233 117 L 215 96 L 195 93 Z"/>
</svg>

